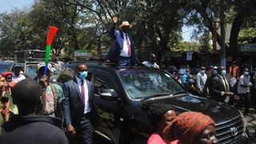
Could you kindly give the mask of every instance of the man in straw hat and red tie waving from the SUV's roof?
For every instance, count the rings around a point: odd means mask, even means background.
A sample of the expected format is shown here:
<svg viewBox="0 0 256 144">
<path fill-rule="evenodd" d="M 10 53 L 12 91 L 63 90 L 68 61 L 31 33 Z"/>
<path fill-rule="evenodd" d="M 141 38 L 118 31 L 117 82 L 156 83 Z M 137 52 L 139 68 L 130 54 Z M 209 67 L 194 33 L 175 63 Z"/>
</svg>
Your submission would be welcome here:
<svg viewBox="0 0 256 144">
<path fill-rule="evenodd" d="M 123 21 L 122 25 L 119 26 L 119 30 L 116 30 L 118 18 L 114 16 L 112 21 L 113 26 L 110 28 L 110 37 L 114 39 L 114 42 L 106 59 L 114 62 L 116 66 L 134 66 L 138 60 L 135 55 L 133 38 L 128 34 L 132 25 L 127 21 Z"/>
</svg>

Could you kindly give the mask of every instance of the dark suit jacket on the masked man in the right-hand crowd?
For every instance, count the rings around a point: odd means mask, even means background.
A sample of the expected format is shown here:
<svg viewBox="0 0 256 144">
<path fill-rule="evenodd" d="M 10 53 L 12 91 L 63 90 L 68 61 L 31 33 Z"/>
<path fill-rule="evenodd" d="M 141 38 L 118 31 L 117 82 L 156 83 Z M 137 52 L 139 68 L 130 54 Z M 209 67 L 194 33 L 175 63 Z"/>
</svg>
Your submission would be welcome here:
<svg viewBox="0 0 256 144">
<path fill-rule="evenodd" d="M 220 76 L 215 76 L 214 78 L 212 78 L 211 82 L 210 82 L 210 96 L 211 98 L 213 98 L 215 101 L 218 102 L 224 102 L 225 100 L 225 96 L 222 95 L 222 92 L 229 92 L 225 90 L 225 86 L 224 83 L 222 82 L 222 78 L 220 78 Z"/>
</svg>

